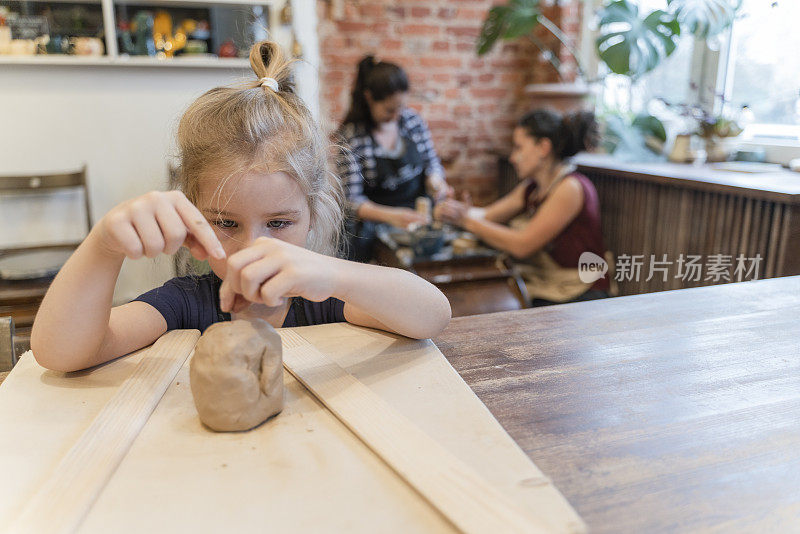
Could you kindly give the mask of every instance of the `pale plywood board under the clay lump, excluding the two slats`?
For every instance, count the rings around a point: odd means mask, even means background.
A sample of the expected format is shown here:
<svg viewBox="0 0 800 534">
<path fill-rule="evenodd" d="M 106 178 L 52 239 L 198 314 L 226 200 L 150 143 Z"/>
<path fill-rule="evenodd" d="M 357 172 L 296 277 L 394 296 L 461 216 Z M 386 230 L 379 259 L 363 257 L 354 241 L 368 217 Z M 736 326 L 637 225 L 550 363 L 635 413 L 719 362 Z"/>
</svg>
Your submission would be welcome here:
<svg viewBox="0 0 800 534">
<path fill-rule="evenodd" d="M 432 342 L 348 324 L 296 330 L 518 507 L 546 510 L 549 531 L 583 530 Z M 0 532 L 143 355 L 69 374 L 22 358 L 0 386 Z M 197 416 L 187 360 L 78 532 L 456 531 L 288 372 L 284 384 L 278 417 L 216 433 Z"/>
</svg>

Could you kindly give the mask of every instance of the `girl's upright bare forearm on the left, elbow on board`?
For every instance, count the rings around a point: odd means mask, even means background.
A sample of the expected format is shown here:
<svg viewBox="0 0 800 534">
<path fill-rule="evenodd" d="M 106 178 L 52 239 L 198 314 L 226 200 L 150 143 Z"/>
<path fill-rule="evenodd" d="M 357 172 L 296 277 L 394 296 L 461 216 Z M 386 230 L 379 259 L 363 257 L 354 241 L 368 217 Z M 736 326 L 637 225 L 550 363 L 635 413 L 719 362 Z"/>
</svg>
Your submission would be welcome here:
<svg viewBox="0 0 800 534">
<path fill-rule="evenodd" d="M 42 301 L 31 333 L 36 360 L 49 369 L 87 366 L 102 346 L 122 262 L 90 233 L 59 271 Z M 133 325 L 132 325 L 133 326 Z"/>
</svg>

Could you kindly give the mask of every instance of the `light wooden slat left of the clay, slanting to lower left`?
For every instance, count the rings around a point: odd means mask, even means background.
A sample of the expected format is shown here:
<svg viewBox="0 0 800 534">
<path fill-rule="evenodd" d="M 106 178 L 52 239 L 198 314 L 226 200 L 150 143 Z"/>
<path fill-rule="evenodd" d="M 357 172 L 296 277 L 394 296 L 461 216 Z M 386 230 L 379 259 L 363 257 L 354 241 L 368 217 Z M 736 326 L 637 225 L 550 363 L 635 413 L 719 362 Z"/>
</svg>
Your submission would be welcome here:
<svg viewBox="0 0 800 534">
<path fill-rule="evenodd" d="M 149 349 L 28 501 L 10 532 L 69 533 L 78 528 L 199 337 L 196 330 L 169 332 Z"/>
</svg>

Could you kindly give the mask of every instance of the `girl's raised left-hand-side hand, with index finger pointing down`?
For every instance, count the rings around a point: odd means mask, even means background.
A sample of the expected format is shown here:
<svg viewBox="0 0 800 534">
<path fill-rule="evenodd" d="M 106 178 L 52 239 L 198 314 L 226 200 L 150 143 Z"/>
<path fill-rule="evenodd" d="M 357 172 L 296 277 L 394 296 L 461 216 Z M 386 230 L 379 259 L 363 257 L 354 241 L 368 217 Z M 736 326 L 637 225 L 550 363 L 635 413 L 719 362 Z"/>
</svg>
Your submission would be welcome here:
<svg viewBox="0 0 800 534">
<path fill-rule="evenodd" d="M 180 191 L 151 191 L 123 202 L 92 230 L 113 255 L 138 259 L 174 254 L 183 245 L 198 260 L 225 258 L 211 225 Z"/>
</svg>

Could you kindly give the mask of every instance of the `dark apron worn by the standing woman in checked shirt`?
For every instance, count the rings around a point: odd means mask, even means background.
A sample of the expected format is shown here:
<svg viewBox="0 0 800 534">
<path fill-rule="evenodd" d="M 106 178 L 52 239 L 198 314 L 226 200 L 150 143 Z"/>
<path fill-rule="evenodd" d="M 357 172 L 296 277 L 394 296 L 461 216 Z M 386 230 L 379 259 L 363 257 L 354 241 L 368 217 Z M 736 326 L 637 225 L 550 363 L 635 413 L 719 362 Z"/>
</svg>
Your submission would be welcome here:
<svg viewBox="0 0 800 534">
<path fill-rule="evenodd" d="M 372 139 L 373 146 L 378 146 Z M 417 197 L 425 193 L 425 159 L 417 144 L 403 137 L 405 151 L 399 158 L 375 157 L 374 182 L 364 180 L 364 195 L 376 204 L 414 209 Z M 348 220 L 347 258 L 369 262 L 375 247 L 375 223 L 360 219 Z"/>
</svg>

